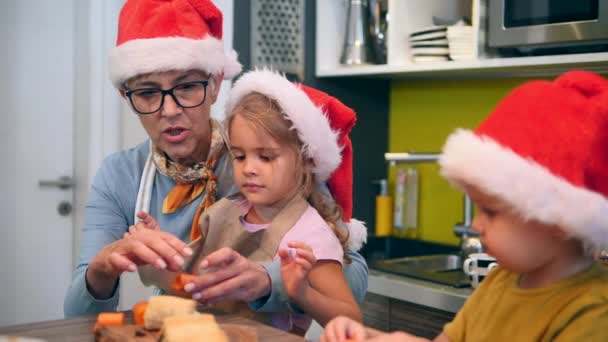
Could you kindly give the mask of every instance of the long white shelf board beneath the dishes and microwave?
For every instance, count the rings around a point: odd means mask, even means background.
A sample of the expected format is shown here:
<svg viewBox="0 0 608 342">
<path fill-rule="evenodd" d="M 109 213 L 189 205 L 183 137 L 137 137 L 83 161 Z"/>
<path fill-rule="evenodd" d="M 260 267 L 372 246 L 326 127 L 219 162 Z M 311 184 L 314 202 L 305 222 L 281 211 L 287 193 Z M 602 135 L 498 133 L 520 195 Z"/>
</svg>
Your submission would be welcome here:
<svg viewBox="0 0 608 342">
<path fill-rule="evenodd" d="M 574 68 L 584 68 L 599 73 L 608 72 L 608 52 L 403 65 L 338 66 L 317 70 L 317 77 L 365 76 L 388 79 L 431 79 L 554 76 Z"/>
</svg>

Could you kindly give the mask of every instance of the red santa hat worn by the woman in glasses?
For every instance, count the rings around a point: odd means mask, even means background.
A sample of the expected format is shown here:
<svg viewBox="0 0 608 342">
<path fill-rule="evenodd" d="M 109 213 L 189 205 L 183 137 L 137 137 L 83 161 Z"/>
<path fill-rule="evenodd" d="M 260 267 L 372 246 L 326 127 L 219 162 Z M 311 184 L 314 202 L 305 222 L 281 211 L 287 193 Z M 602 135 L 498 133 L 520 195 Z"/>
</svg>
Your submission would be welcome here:
<svg viewBox="0 0 608 342">
<path fill-rule="evenodd" d="M 222 12 L 209 0 L 128 0 L 110 51 L 112 83 L 168 70 L 203 70 L 230 79 L 241 72 L 234 50 L 225 52 Z"/>
</svg>

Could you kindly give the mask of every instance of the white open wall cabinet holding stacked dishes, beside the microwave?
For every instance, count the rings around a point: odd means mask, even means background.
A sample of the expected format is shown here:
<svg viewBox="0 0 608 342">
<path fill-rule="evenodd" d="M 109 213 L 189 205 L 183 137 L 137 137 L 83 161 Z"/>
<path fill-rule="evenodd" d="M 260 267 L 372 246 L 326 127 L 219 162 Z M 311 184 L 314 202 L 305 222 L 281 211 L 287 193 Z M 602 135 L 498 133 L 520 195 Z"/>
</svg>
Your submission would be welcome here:
<svg viewBox="0 0 608 342">
<path fill-rule="evenodd" d="M 485 47 L 487 0 L 389 0 L 387 64 L 340 64 L 348 1 L 316 2 L 316 69 L 320 78 L 364 76 L 382 79 L 495 78 L 553 76 L 573 68 L 608 72 L 608 52 L 504 58 Z M 453 18 L 473 13 L 476 59 L 412 63 L 409 32 L 432 25 L 432 17 Z"/>
</svg>

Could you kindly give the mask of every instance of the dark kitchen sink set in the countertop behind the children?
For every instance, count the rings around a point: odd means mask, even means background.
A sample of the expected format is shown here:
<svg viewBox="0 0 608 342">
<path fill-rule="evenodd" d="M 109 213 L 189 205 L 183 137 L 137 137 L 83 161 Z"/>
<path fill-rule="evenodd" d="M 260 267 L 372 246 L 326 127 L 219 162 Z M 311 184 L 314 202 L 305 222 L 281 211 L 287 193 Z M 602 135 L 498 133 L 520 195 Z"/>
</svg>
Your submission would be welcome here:
<svg viewBox="0 0 608 342">
<path fill-rule="evenodd" d="M 462 270 L 462 258 L 458 254 L 434 254 L 372 260 L 369 262 L 369 266 L 380 271 L 454 287 L 471 286 L 468 276 Z"/>
</svg>

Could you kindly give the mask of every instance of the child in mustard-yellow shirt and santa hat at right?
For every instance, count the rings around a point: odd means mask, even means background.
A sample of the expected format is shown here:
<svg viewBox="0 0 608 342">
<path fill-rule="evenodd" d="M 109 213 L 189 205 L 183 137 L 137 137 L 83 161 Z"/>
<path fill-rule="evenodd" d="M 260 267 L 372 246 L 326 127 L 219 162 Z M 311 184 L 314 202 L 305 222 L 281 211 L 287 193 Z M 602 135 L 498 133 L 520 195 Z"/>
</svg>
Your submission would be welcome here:
<svg viewBox="0 0 608 342">
<path fill-rule="evenodd" d="M 477 206 L 500 265 L 435 341 L 606 341 L 608 81 L 573 71 L 509 94 L 475 132 L 447 140 L 441 174 Z M 420 341 L 345 318 L 322 341 Z"/>
</svg>

